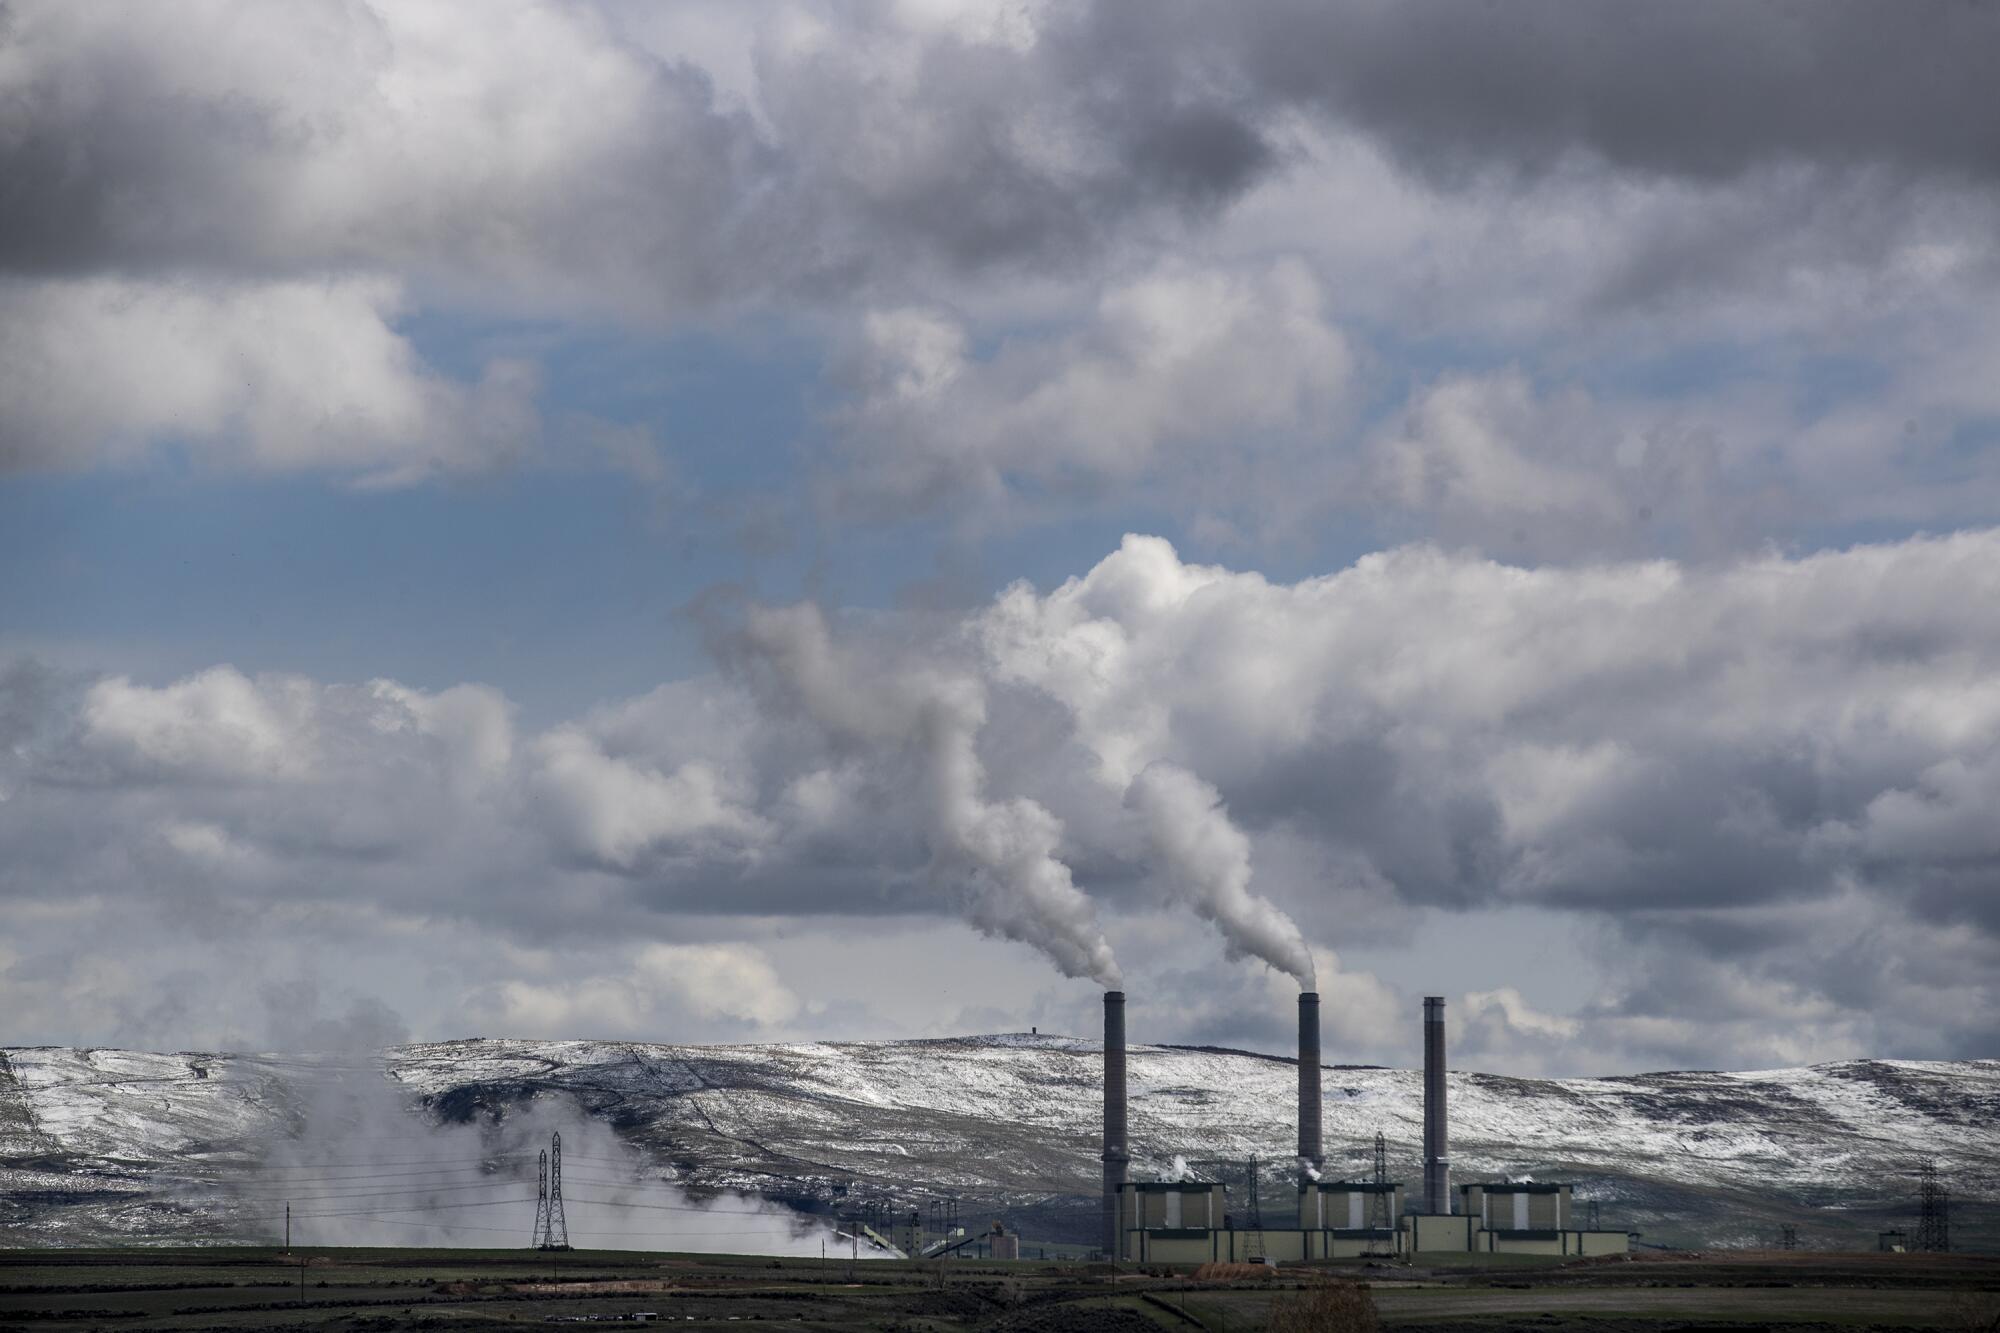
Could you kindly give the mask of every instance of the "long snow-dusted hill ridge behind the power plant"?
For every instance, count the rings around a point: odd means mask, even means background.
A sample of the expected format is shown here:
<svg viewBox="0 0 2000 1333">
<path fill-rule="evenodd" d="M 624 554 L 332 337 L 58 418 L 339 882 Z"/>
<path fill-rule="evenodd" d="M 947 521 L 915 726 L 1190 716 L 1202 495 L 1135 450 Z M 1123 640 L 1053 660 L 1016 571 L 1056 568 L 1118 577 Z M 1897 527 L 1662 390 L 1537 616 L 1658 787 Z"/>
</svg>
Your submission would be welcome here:
<svg viewBox="0 0 2000 1333">
<path fill-rule="evenodd" d="M 1240 1195 L 1242 1167 L 1230 1163 L 1256 1155 L 1268 1163 L 1266 1205 L 1288 1189 L 1290 1061 L 1134 1047 L 1130 1081 L 1138 1175 L 1184 1155 Z M 1416 1179 L 1418 1075 L 1330 1067 L 1324 1083 L 1328 1169 L 1360 1173 L 1380 1131 L 1390 1171 Z M 1806 1241 L 1872 1241 L 1872 1231 L 1912 1221 L 1910 1173 L 1924 1157 L 1938 1159 L 1954 1189 L 1958 1239 L 2000 1239 L 2000 1061 L 1618 1079 L 1458 1073 L 1450 1109 L 1458 1181 L 1574 1179 L 1606 1225 L 1636 1227 L 1648 1241 L 1746 1245 L 1780 1223 Z M 1006 1215 L 1030 1235 L 1082 1239 L 1094 1207 L 1098 1049 L 1030 1035 L 762 1047 L 450 1041 L 372 1059 L 8 1049 L 0 1241 L 268 1235 L 240 1199 L 242 1181 L 268 1179 L 258 1173 L 272 1163 L 352 1173 L 436 1155 L 438 1135 L 520 1149 L 496 1135 L 564 1117 L 622 1145 L 616 1167 L 598 1157 L 596 1169 L 698 1195 L 746 1189 L 800 1207 L 922 1207 L 954 1195 L 964 1217 Z"/>
</svg>

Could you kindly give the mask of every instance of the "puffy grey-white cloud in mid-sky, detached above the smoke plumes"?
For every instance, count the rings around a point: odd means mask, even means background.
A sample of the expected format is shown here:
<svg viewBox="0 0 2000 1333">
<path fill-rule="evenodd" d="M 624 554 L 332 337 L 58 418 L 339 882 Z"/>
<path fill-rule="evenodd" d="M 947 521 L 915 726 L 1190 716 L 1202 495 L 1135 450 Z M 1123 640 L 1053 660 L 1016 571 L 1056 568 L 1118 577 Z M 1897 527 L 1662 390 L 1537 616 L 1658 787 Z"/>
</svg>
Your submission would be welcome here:
<svg viewBox="0 0 2000 1333">
<path fill-rule="evenodd" d="M 938 310 L 876 310 L 836 424 L 844 486 L 876 500 L 1212 482 L 1238 454 L 1328 434 L 1352 374 L 1346 338 L 1298 262 L 1166 268 L 1114 286 L 1084 332 L 974 356 Z M 1260 446 L 1262 444 L 1262 446 Z"/>
</svg>

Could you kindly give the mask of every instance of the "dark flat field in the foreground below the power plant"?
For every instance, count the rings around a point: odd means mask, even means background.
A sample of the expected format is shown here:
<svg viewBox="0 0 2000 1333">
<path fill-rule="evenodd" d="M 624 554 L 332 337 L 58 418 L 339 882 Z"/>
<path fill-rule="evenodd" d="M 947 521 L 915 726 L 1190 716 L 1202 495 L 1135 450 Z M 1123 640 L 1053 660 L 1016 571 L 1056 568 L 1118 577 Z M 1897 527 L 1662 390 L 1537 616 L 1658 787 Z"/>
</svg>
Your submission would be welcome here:
<svg viewBox="0 0 2000 1333">
<path fill-rule="evenodd" d="M 1966 1255 L 1642 1255 L 1600 1261 L 1188 1271 L 634 1251 L 0 1251 L 0 1329 L 490 1329 L 550 1319 L 798 1329 L 1236 1329 L 1336 1277 L 1394 1329 L 2000 1329 L 2000 1261 Z M 620 1325 L 622 1327 L 622 1321 Z M 1352 1327 L 1352 1325 L 1342 1325 Z"/>
</svg>

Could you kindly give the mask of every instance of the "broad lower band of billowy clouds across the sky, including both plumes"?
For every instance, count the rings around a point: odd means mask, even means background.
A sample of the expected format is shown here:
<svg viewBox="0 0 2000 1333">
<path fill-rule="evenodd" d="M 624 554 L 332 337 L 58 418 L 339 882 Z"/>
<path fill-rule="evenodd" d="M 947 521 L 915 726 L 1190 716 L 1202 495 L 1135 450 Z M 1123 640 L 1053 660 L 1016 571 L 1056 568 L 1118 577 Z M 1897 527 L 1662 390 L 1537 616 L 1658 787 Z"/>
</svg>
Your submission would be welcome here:
<svg viewBox="0 0 2000 1333">
<path fill-rule="evenodd" d="M 10 733 L 0 891 L 50 931 L 130 907 L 182 931 L 478 923 L 528 953 L 476 1011 L 546 1031 L 642 1021 L 646 967 L 758 993 L 730 953 L 752 921 L 962 913 L 1108 985 L 1100 911 L 1132 931 L 1176 899 L 1388 1013 L 1334 957 L 1356 911 L 1536 907 L 1596 923 L 1586 957 L 1616 967 L 1572 1013 L 1526 977 L 1466 997 L 1476 1047 L 1976 1055 L 1994 570 L 1974 530 L 1702 566 L 1410 546 L 1272 582 L 1132 536 L 964 616 L 750 606 L 718 675 L 530 737 L 482 687 L 12 673 L 36 721 Z M 668 953 L 530 957 L 606 937 Z"/>
</svg>

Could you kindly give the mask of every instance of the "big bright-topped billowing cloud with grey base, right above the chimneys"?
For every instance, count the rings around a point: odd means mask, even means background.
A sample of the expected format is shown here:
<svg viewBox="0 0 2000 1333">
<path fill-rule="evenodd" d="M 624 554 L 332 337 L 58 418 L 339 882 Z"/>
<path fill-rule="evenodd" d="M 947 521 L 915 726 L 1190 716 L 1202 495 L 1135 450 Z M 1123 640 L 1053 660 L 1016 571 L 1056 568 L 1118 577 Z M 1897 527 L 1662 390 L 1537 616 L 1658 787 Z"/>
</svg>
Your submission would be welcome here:
<svg viewBox="0 0 2000 1333">
<path fill-rule="evenodd" d="M 1864 883 L 1944 925 L 1980 913 L 1976 853 L 1946 877 L 1834 847 L 1876 801 L 1940 805 L 1936 735 L 1882 719 L 1976 689 L 1994 646 L 1934 596 L 1984 580 L 1990 542 L 1712 572 L 1410 548 L 1272 586 L 1130 538 L 1046 596 L 1006 594 L 986 630 L 1116 767 L 1198 765 L 1252 847 L 1306 831 L 1406 901 L 1604 913 L 1664 945 L 1668 905 L 1786 919 Z M 1340 885 L 1266 891 L 1308 929 L 1336 921 Z M 1774 957 L 1796 943 L 1760 939 Z"/>
</svg>

